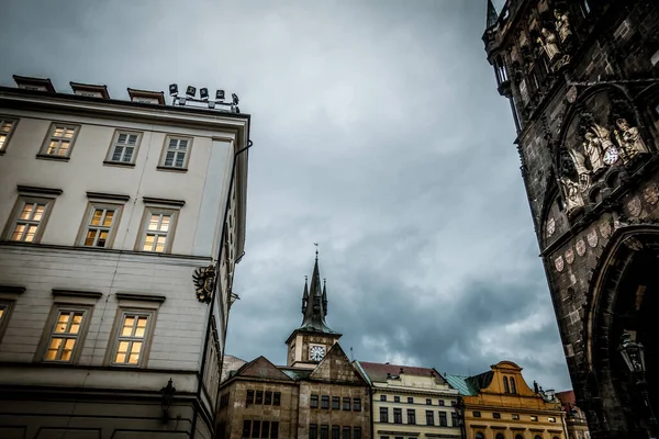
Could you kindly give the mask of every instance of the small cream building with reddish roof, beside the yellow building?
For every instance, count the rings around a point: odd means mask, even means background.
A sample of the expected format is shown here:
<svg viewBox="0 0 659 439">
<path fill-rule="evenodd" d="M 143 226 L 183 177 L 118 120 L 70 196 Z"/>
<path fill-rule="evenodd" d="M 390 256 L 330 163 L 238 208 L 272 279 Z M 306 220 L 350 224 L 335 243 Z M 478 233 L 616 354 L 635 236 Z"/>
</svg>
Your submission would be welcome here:
<svg viewBox="0 0 659 439">
<path fill-rule="evenodd" d="M 355 361 L 371 385 L 376 439 L 460 438 L 458 391 L 434 369 Z"/>
</svg>

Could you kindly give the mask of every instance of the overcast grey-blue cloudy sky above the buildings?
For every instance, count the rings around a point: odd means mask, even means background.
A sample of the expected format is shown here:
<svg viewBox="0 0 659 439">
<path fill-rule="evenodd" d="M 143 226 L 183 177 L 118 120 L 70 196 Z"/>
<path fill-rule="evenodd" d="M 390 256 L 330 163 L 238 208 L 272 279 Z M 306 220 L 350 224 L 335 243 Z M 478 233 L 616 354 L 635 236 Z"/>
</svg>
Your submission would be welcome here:
<svg viewBox="0 0 659 439">
<path fill-rule="evenodd" d="M 227 353 L 286 362 L 319 243 L 327 323 L 356 359 L 462 374 L 505 359 L 571 386 L 485 0 L 14 0 L 2 15 L 3 86 L 241 97 L 254 147 Z"/>
</svg>

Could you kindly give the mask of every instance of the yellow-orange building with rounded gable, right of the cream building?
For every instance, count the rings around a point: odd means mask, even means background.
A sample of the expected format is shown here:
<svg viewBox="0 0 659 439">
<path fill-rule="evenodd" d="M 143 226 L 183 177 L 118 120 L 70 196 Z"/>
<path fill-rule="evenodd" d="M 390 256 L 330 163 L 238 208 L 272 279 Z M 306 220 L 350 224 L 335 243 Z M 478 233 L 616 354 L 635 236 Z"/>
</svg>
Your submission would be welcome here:
<svg viewBox="0 0 659 439">
<path fill-rule="evenodd" d="M 522 368 L 512 361 L 501 361 L 478 375 L 445 379 L 459 390 L 465 403 L 466 439 L 568 437 L 560 402 L 551 392 L 532 390 Z"/>
</svg>

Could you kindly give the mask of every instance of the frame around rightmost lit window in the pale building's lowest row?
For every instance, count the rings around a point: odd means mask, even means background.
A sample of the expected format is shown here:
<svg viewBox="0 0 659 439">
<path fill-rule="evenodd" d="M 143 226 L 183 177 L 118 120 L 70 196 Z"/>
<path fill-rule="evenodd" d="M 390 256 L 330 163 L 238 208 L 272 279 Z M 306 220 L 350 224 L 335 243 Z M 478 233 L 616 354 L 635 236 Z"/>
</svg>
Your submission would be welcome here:
<svg viewBox="0 0 659 439">
<path fill-rule="evenodd" d="M 124 334 L 124 326 L 127 318 L 133 318 L 131 324 L 131 333 Z M 146 318 L 146 325 L 142 336 L 138 336 L 137 329 L 139 328 L 139 318 Z M 150 341 L 153 338 L 153 331 L 156 320 L 155 309 L 141 309 L 141 308 L 119 308 L 115 325 L 113 329 L 113 336 L 111 339 L 111 349 L 109 349 L 108 364 L 121 368 L 145 368 L 148 361 L 148 352 L 150 350 Z M 137 353 L 137 361 L 130 362 L 131 356 L 135 354 L 135 344 L 139 342 L 139 349 Z M 127 344 L 122 346 L 122 344 Z M 120 348 L 126 348 L 125 357 L 123 361 L 116 361 Z"/>
</svg>

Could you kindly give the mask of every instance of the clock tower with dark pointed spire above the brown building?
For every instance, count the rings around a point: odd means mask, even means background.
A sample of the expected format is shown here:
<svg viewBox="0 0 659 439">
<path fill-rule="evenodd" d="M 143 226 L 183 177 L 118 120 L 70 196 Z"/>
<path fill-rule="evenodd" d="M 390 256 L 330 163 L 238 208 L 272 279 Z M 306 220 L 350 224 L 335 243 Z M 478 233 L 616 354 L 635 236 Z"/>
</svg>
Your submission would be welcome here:
<svg viewBox="0 0 659 439">
<path fill-rule="evenodd" d="M 327 316 L 327 285 L 325 281 L 321 285 L 317 250 L 313 273 L 311 274 L 311 286 L 308 279 L 304 279 L 302 316 L 302 325 L 294 329 L 286 340 L 288 346 L 287 365 L 290 368 L 314 369 L 342 336 L 330 329 L 325 323 Z"/>
</svg>

